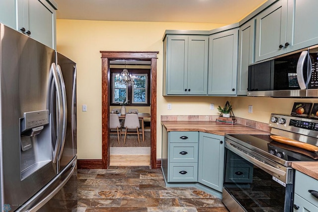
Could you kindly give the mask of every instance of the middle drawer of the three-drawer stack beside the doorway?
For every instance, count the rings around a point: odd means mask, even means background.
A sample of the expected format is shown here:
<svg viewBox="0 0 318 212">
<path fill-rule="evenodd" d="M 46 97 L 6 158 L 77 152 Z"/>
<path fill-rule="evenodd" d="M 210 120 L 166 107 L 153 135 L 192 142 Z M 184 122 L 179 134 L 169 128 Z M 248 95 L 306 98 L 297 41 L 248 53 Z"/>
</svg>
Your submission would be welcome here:
<svg viewBox="0 0 318 212">
<path fill-rule="evenodd" d="M 170 162 L 198 162 L 198 143 L 170 143 Z"/>
</svg>

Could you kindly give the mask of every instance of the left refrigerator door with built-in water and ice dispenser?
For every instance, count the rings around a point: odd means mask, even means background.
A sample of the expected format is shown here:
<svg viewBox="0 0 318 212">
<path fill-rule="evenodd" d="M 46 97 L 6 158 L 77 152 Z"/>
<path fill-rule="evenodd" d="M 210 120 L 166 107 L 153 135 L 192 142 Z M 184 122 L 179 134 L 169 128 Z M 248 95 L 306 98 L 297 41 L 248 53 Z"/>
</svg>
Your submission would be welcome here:
<svg viewBox="0 0 318 212">
<path fill-rule="evenodd" d="M 57 174 L 48 108 L 54 62 L 54 50 L 0 24 L 0 199 L 11 211 Z"/>
</svg>

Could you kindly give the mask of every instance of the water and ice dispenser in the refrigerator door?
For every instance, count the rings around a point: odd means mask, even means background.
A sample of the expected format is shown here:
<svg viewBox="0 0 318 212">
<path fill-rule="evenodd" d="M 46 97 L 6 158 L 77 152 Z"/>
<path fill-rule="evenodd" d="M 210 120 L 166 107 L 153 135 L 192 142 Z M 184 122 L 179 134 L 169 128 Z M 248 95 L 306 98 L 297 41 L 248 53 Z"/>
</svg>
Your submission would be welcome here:
<svg viewBox="0 0 318 212">
<path fill-rule="evenodd" d="M 20 119 L 21 180 L 52 160 L 50 116 L 48 110 L 32 111 Z"/>
</svg>

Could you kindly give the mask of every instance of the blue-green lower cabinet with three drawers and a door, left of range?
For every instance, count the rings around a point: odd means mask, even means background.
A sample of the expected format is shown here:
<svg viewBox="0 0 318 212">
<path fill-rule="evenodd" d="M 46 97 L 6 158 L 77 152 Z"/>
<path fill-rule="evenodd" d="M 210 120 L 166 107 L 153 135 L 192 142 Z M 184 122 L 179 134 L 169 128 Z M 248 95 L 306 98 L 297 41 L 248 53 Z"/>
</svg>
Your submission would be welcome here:
<svg viewBox="0 0 318 212">
<path fill-rule="evenodd" d="M 167 132 L 162 126 L 161 169 L 167 187 L 197 187 L 222 198 L 224 136 Z"/>
</svg>

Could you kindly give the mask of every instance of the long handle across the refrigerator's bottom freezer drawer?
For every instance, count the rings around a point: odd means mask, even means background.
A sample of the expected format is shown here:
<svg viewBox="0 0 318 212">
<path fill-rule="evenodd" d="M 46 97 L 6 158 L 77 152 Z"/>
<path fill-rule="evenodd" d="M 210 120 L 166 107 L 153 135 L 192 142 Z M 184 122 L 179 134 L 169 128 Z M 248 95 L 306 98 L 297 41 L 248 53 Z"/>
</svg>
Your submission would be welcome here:
<svg viewBox="0 0 318 212">
<path fill-rule="evenodd" d="M 68 167 L 66 167 L 65 169 L 71 169 L 71 171 L 68 170 L 68 175 L 66 178 L 63 179 L 63 181 L 52 191 L 50 192 L 50 194 L 48 194 L 46 197 L 44 197 L 43 199 L 41 199 L 41 201 L 39 201 L 38 203 L 36 203 L 35 206 L 33 206 L 31 209 L 26 210 L 25 212 L 36 212 L 38 211 L 41 207 L 43 207 L 47 202 L 49 202 L 64 186 L 65 184 L 69 181 L 69 179 L 71 178 L 71 176 L 74 173 L 74 170 L 76 168 L 76 163 L 77 163 L 77 157 L 75 157 L 73 159 L 73 161 L 71 163 L 69 163 Z M 59 178 L 60 176 L 56 176 L 52 181 L 56 181 L 57 178 Z M 43 187 L 43 189 L 41 191 L 45 191 L 47 188 L 49 188 L 50 185 L 46 185 L 45 187 Z M 41 193 L 41 191 L 39 193 Z M 32 202 L 34 202 L 34 200 L 36 200 L 36 196 L 34 196 L 31 200 L 29 200 L 28 202 L 26 202 L 24 205 L 28 206 L 28 205 L 32 205 Z M 23 208 L 21 210 L 18 210 L 18 212 L 24 211 Z"/>
</svg>

